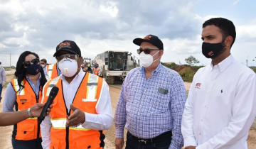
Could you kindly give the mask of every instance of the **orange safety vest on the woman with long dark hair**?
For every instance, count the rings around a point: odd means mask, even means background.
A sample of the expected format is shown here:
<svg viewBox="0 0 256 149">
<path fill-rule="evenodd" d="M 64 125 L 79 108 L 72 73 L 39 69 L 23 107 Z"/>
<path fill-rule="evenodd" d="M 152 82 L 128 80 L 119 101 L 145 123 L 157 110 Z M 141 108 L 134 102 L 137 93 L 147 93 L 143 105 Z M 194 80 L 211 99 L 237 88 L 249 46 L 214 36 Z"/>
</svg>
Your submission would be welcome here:
<svg viewBox="0 0 256 149">
<path fill-rule="evenodd" d="M 18 79 L 12 79 L 11 85 L 16 92 L 16 111 L 28 109 L 36 103 L 41 103 L 42 92 L 39 91 L 39 97 L 36 98 L 36 93 L 33 92 L 31 85 L 26 79 L 21 82 L 24 88 L 18 92 Z M 28 118 L 14 125 L 13 138 L 16 140 L 34 140 L 41 138 L 40 126 L 38 125 L 37 118 Z"/>
</svg>

